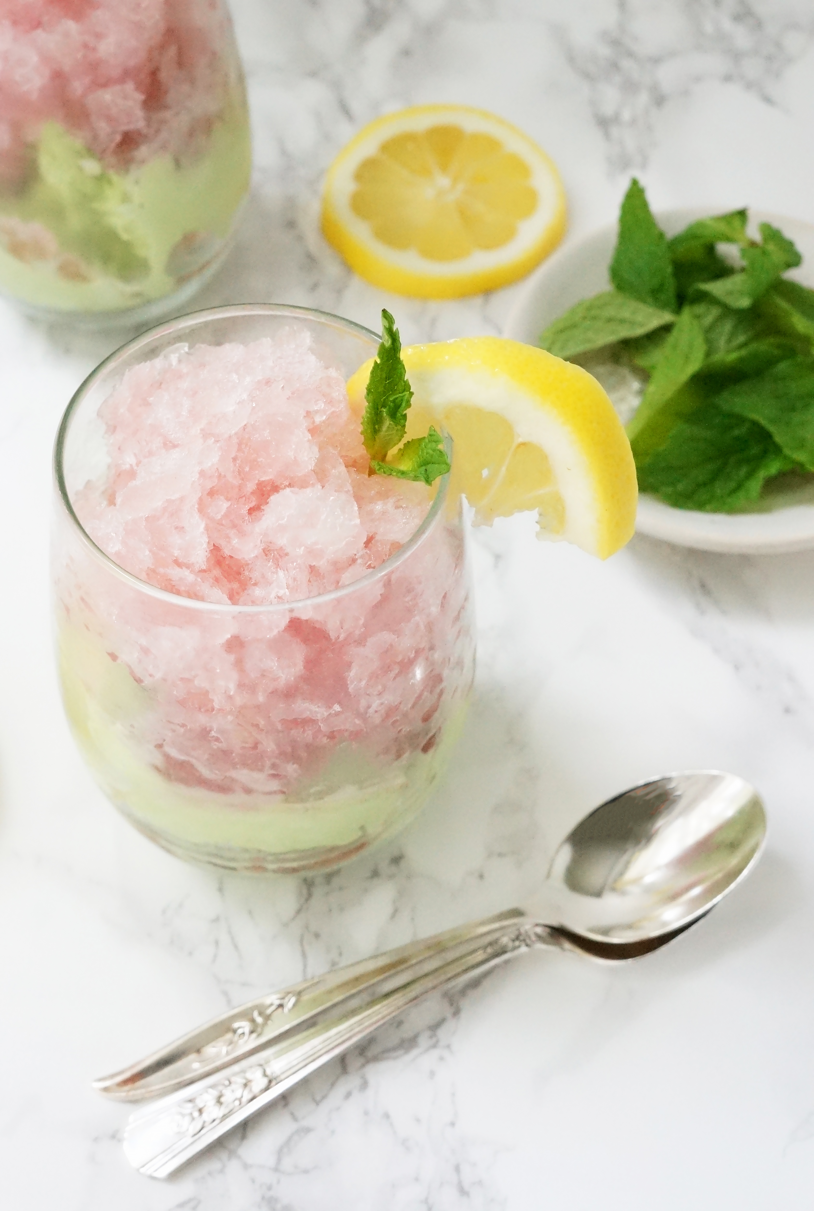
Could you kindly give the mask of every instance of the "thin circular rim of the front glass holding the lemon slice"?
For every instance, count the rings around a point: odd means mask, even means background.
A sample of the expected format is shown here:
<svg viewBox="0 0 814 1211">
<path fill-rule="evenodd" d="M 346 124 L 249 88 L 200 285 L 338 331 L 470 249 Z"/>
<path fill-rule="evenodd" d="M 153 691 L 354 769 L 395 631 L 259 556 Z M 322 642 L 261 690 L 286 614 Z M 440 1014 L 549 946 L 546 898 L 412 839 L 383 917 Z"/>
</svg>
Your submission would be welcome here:
<svg viewBox="0 0 814 1211">
<path fill-rule="evenodd" d="M 339 601 L 343 597 L 352 596 L 356 590 L 367 589 L 376 584 L 385 576 L 392 568 L 397 567 L 400 563 L 409 556 L 412 551 L 418 547 L 429 530 L 432 528 L 435 521 L 437 520 L 443 504 L 447 499 L 449 490 L 449 472 L 441 477 L 441 482 L 435 493 L 426 516 L 423 518 L 420 526 L 409 535 L 406 543 L 403 543 L 397 551 L 388 556 L 377 568 L 372 568 L 363 575 L 359 576 L 356 580 L 351 580 L 346 585 L 340 585 L 338 589 L 332 589 L 326 593 L 317 593 L 314 597 L 298 597 L 294 601 L 282 601 L 282 602 L 268 602 L 260 606 L 233 606 L 229 602 L 208 602 L 201 601 L 197 597 L 183 597 L 180 593 L 172 593 L 166 589 L 159 589 L 157 585 L 151 585 L 149 580 L 142 580 L 132 572 L 127 572 L 121 564 L 109 556 L 102 547 L 93 541 L 91 535 L 87 533 L 81 521 L 79 520 L 74 506 L 68 493 L 68 487 L 65 484 L 64 476 L 64 449 L 65 441 L 68 437 L 68 431 L 70 429 L 70 421 L 74 413 L 79 408 L 82 400 L 86 397 L 91 388 L 104 377 L 105 373 L 115 369 L 116 365 L 125 361 L 125 358 L 138 350 L 141 345 L 149 345 L 153 340 L 162 335 L 173 335 L 176 333 L 183 332 L 185 328 L 191 329 L 197 325 L 204 323 L 208 320 L 229 320 L 231 317 L 239 317 L 241 315 L 277 315 L 287 316 L 292 318 L 309 318 L 317 320 L 321 322 L 327 322 L 329 327 L 338 327 L 350 329 L 357 333 L 360 337 L 365 337 L 371 340 L 376 346 L 380 342 L 380 337 L 373 332 L 371 328 L 366 328 L 361 323 L 356 323 L 354 320 L 345 320 L 343 316 L 334 315 L 332 311 L 320 311 L 316 308 L 294 306 L 287 303 L 233 303 L 225 306 L 207 308 L 201 311 L 190 311 L 183 316 L 177 316 L 174 320 L 167 320 L 164 323 L 157 325 L 154 328 L 148 328 L 147 332 L 139 333 L 132 340 L 126 342 L 117 349 L 114 349 L 103 361 L 96 366 L 91 373 L 82 379 L 80 385 L 74 391 L 68 407 L 65 408 L 62 420 L 59 421 L 59 427 L 57 429 L 57 436 L 53 443 L 53 480 L 57 488 L 57 495 L 62 507 L 68 515 L 68 520 L 73 522 L 74 529 L 79 533 L 80 539 L 84 545 L 90 550 L 97 559 L 99 559 L 104 566 L 107 566 L 119 579 L 130 584 L 133 589 L 138 589 L 141 592 L 147 593 L 159 601 L 167 602 L 173 606 L 184 607 L 187 609 L 197 609 L 207 613 L 219 613 L 219 614 L 266 614 L 270 612 L 280 610 L 303 610 L 305 608 L 314 608 L 317 606 L 326 604 L 327 602 Z M 447 457 L 452 459 L 452 438 L 449 434 L 442 430 L 443 443 L 447 450 Z"/>
</svg>

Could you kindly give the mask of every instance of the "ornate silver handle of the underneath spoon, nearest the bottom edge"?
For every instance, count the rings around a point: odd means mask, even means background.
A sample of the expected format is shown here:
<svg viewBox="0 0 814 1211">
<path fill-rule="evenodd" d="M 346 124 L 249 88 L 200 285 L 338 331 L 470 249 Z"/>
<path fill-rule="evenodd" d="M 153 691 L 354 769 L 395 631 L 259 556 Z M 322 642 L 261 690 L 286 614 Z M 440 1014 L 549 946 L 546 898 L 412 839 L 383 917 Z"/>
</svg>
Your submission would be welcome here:
<svg viewBox="0 0 814 1211">
<path fill-rule="evenodd" d="M 125 1131 L 125 1153 L 134 1169 L 151 1177 L 168 1177 L 310 1075 L 321 1064 L 360 1043 L 409 1005 L 466 976 L 532 946 L 567 945 L 557 930 L 518 917 L 497 936 L 481 941 L 455 958 L 445 955 L 431 970 L 402 983 L 361 1008 L 303 1028 L 230 1067 L 218 1080 L 202 1080 L 136 1110 Z"/>
</svg>

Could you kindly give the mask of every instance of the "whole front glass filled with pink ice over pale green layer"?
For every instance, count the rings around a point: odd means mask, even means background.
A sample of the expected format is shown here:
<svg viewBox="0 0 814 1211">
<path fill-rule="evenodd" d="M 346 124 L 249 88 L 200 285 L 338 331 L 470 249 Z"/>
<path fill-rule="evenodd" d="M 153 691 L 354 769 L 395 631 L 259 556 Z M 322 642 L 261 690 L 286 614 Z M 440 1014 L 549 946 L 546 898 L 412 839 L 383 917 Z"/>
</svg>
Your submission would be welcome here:
<svg viewBox="0 0 814 1211">
<path fill-rule="evenodd" d="M 460 518 L 446 484 L 367 475 L 344 380 L 374 351 L 333 317 L 224 309 L 126 346 L 63 421 L 69 719 L 182 855 L 342 861 L 418 810 L 460 728 Z"/>
</svg>

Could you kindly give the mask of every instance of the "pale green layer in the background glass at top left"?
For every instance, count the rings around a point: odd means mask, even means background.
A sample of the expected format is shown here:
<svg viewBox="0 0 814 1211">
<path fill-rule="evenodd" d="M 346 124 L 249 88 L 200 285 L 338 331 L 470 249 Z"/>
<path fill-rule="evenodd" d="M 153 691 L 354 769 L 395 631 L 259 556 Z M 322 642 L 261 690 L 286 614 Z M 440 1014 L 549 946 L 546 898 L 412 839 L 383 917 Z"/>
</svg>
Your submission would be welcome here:
<svg viewBox="0 0 814 1211">
<path fill-rule="evenodd" d="M 245 107 L 188 162 L 110 172 L 46 122 L 19 191 L 0 191 L 0 292 L 57 311 L 120 311 L 176 294 L 225 247 L 251 173 Z"/>
</svg>

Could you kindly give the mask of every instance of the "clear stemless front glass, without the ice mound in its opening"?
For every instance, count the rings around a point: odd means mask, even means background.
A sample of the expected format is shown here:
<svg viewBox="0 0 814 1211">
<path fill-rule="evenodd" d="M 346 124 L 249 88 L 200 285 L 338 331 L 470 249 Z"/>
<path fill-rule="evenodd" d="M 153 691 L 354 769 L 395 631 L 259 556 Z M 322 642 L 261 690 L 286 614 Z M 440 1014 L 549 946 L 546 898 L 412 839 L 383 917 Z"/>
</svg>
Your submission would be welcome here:
<svg viewBox="0 0 814 1211">
<path fill-rule="evenodd" d="M 459 501 L 448 476 L 412 538 L 319 597 L 224 607 L 145 584 L 104 555 L 73 500 L 105 466 L 98 409 L 131 367 L 185 343 L 305 326 L 345 379 L 378 337 L 300 308 L 171 321 L 81 385 L 55 449 L 53 584 L 62 693 L 98 782 L 182 857 L 246 871 L 342 862 L 401 828 L 445 767 L 475 659 Z"/>
</svg>

